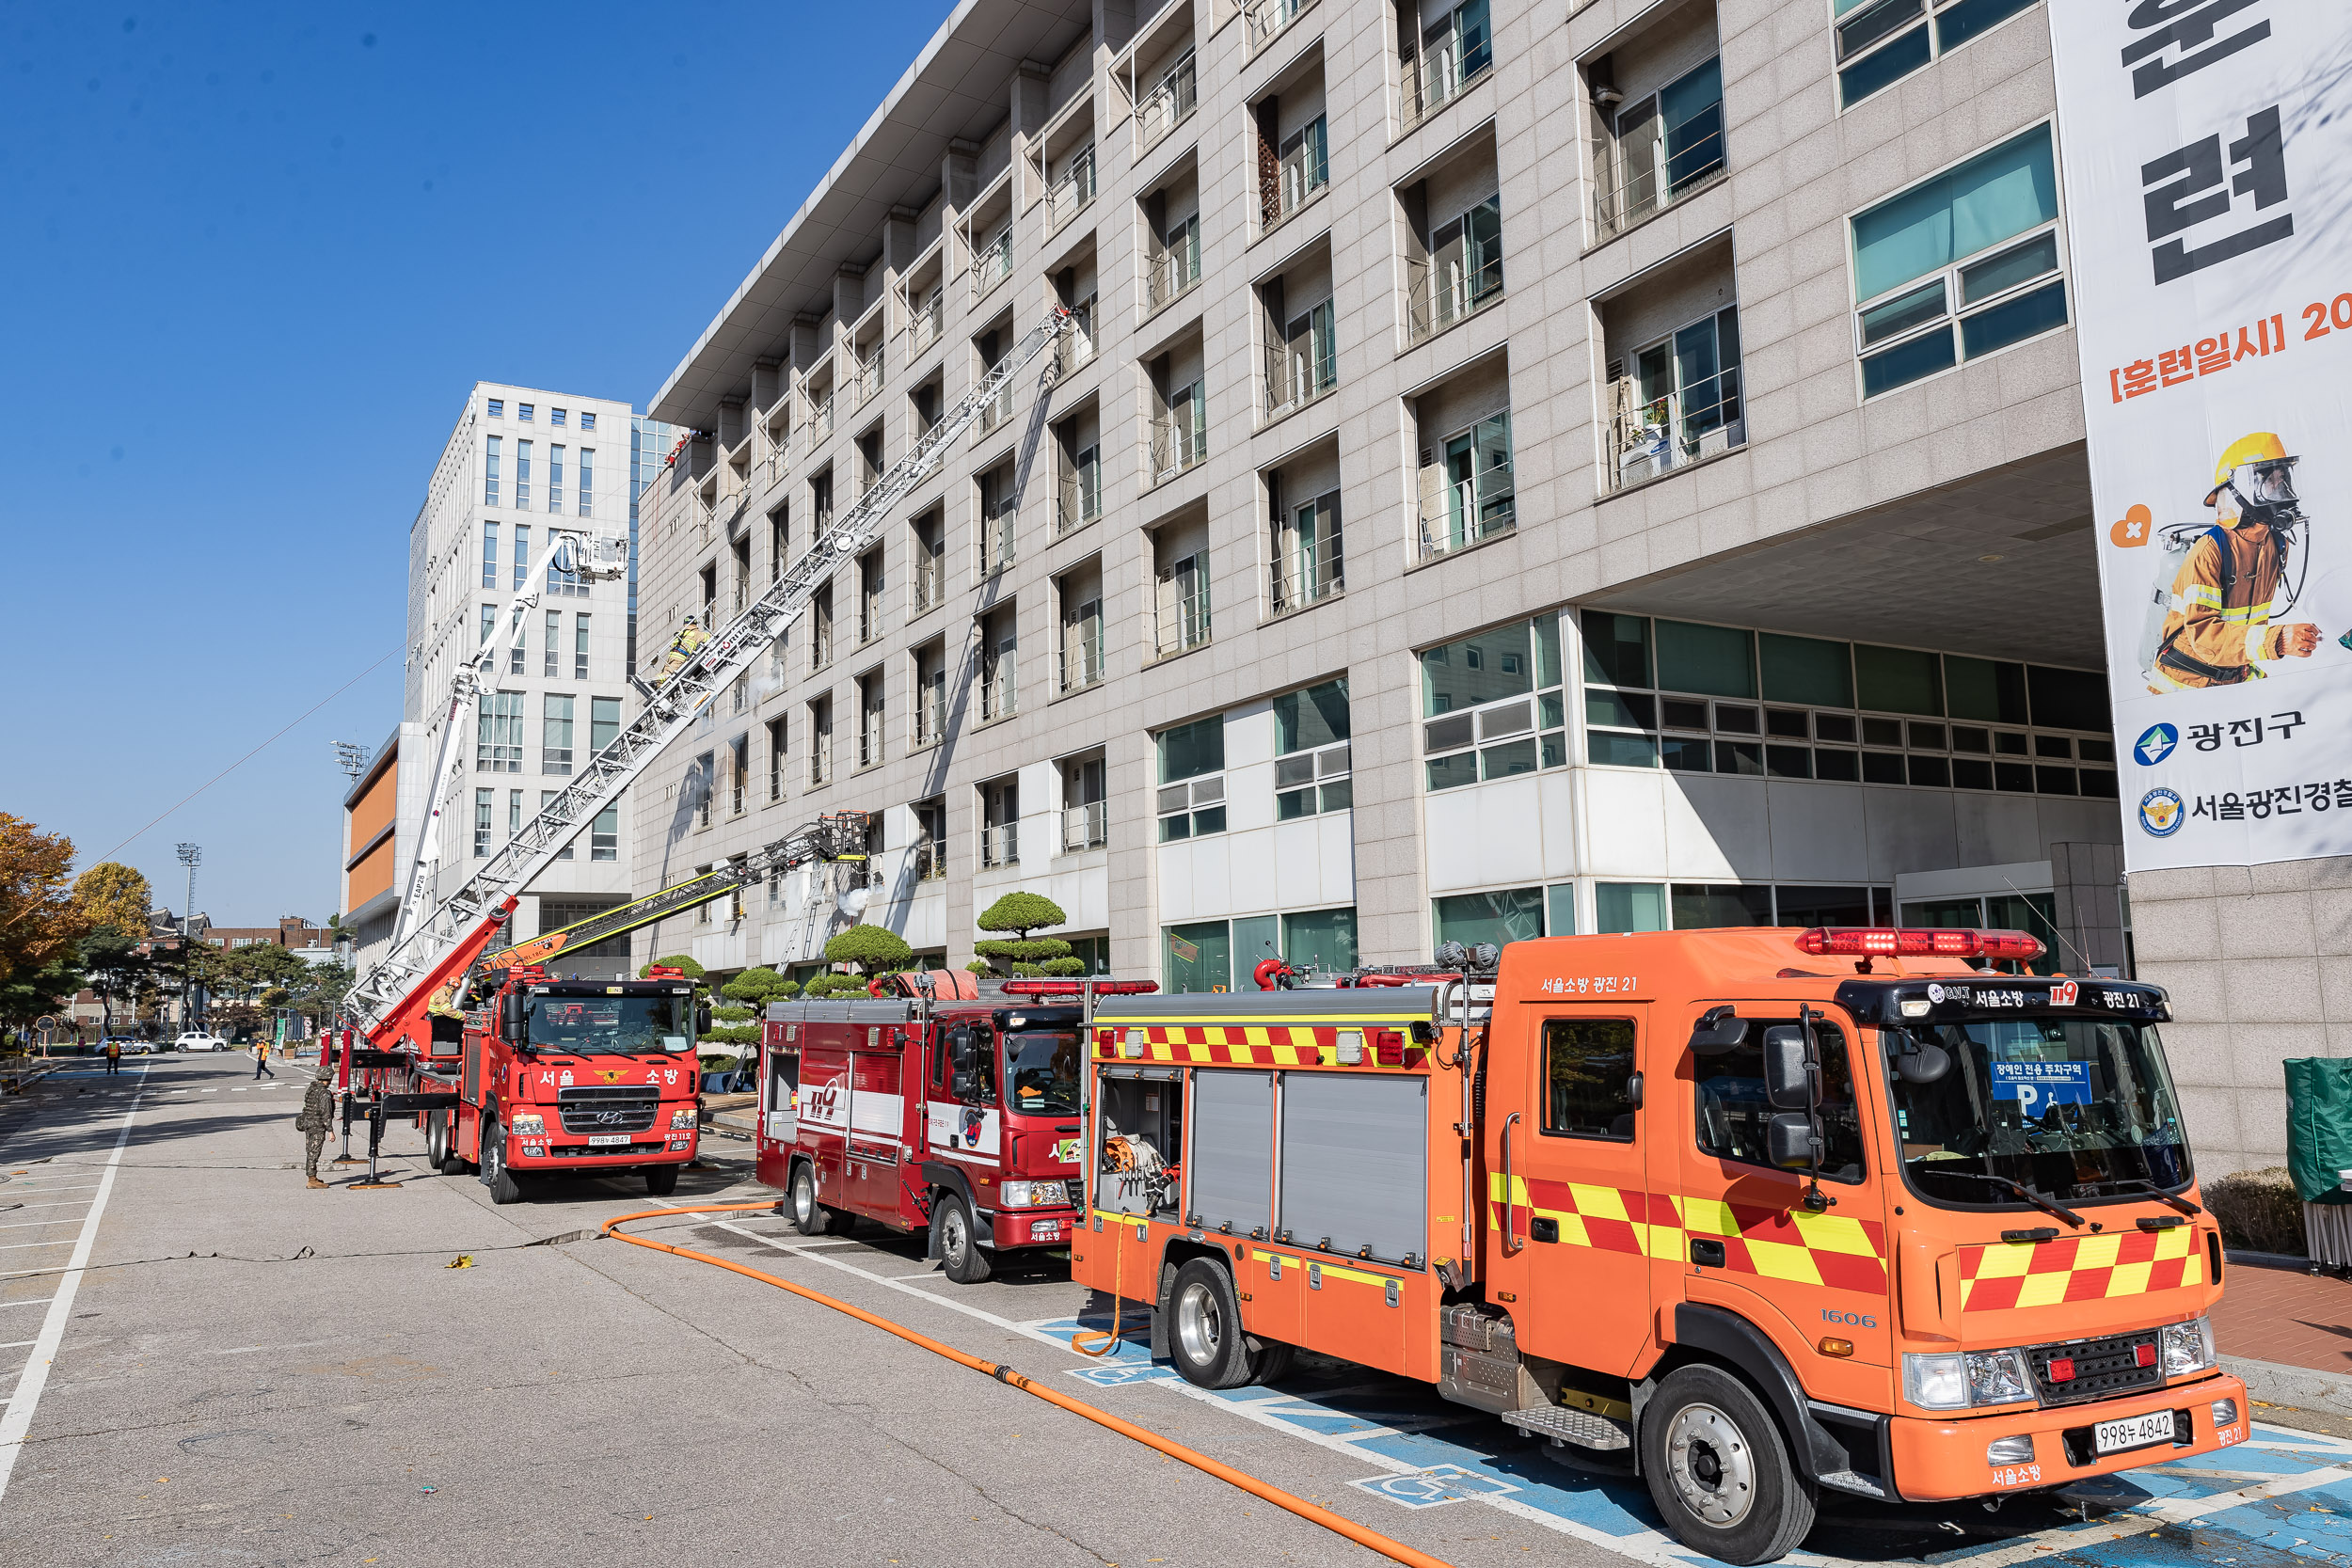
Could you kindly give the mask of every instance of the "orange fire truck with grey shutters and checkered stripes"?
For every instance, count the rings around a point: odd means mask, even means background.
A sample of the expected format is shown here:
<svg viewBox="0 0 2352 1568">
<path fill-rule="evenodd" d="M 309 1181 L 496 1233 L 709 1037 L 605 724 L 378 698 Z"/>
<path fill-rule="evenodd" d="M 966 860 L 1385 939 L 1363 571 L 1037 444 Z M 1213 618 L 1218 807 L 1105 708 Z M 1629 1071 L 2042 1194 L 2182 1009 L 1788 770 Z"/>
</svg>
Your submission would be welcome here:
<svg viewBox="0 0 2352 1568">
<path fill-rule="evenodd" d="M 1632 1469 L 1726 1563 L 2246 1439 L 2164 992 L 2016 931 L 1526 940 L 1105 999 L 1073 1276 L 1204 1387 L 1305 1347 Z"/>
</svg>

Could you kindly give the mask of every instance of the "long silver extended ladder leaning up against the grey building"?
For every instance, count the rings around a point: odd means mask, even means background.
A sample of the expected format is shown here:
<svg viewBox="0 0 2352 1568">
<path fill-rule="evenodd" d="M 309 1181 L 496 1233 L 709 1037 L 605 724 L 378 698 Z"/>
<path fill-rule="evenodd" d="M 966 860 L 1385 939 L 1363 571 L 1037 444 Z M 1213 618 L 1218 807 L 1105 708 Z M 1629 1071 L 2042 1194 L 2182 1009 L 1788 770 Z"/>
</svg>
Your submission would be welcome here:
<svg viewBox="0 0 2352 1568">
<path fill-rule="evenodd" d="M 534 818 L 499 846 L 466 884 L 393 938 L 376 964 L 343 997 L 350 1020 L 372 1030 L 426 973 L 506 898 L 522 893 L 604 806 L 635 783 L 691 726 L 703 708 L 776 642 L 802 614 L 835 567 L 854 559 L 917 484 L 946 461 L 948 449 L 981 418 L 1047 343 L 1070 329 L 1073 315 L 1054 306 L 948 414 L 931 425 L 882 480 L 858 496 L 840 522 L 769 583 L 748 609 L 717 628 L 647 701 L 644 712 L 572 776 Z M 1051 362 L 1047 367 L 1051 381 Z M 454 719 L 452 719 L 454 726 Z M 445 738 L 445 743 L 449 743 Z"/>
</svg>

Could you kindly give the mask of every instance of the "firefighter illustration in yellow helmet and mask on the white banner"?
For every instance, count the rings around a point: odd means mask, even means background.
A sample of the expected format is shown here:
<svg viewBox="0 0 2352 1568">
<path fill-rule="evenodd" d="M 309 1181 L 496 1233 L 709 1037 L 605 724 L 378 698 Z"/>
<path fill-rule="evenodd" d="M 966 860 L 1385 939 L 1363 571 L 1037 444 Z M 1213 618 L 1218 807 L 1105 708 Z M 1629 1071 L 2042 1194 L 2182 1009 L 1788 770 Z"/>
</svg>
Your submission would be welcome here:
<svg viewBox="0 0 2352 1568">
<path fill-rule="evenodd" d="M 2140 672 L 2152 693 L 2265 679 L 2281 658 L 2310 658 L 2319 628 L 2286 621 L 2310 578 L 2296 463 L 2270 430 L 2230 442 L 2206 491 L 2211 522 L 2154 529 L 2136 505 L 2114 524 L 2119 545 L 2161 538 L 2140 635 Z M 2288 585 L 2291 581 L 2291 585 Z"/>
</svg>

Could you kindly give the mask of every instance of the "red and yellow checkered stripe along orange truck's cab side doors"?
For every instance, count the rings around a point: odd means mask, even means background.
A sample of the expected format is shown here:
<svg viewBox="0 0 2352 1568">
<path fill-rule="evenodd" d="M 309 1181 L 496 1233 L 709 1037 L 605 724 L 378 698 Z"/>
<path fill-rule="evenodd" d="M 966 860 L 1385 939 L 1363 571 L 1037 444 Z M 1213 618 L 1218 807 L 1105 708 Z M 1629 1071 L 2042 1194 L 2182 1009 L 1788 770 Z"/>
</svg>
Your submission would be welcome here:
<svg viewBox="0 0 2352 1568">
<path fill-rule="evenodd" d="M 1830 1213 L 1752 1208 L 1668 1192 L 1592 1187 L 1531 1175 L 1517 1187 L 1517 1234 L 1534 1218 L 1559 1222 L 1562 1246 L 1684 1258 L 1691 1237 L 1724 1244 L 1724 1269 L 1832 1291 L 1886 1291 L 1886 1227 Z M 1503 1178 L 1486 1178 L 1486 1218 L 1503 1225 Z"/>
</svg>

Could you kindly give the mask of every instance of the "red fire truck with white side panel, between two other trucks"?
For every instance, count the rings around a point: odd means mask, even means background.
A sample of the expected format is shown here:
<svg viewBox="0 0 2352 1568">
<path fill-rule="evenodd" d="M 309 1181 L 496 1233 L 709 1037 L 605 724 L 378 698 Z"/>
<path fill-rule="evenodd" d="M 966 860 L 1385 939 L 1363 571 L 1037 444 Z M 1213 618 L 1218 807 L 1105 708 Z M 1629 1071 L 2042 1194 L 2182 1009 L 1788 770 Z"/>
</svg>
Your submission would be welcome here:
<svg viewBox="0 0 2352 1568">
<path fill-rule="evenodd" d="M 974 1284 L 1007 1253 L 1070 1244 L 1087 1013 L 1155 987 L 1007 980 L 983 997 L 953 971 L 917 985 L 769 1004 L 757 1175 L 788 1194 L 800 1234 L 858 1218 L 927 1229 L 948 1279 Z"/>
</svg>

